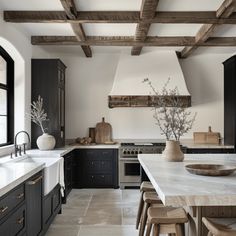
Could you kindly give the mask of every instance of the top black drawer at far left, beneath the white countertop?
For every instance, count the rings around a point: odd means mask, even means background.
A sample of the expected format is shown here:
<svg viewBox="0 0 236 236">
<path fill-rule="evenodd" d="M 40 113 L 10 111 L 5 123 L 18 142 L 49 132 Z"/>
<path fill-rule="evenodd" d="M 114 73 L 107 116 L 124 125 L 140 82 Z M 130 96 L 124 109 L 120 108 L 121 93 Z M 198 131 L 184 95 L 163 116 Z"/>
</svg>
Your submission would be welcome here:
<svg viewBox="0 0 236 236">
<path fill-rule="evenodd" d="M 24 200 L 25 200 L 24 185 L 17 187 L 10 193 L 7 193 L 6 196 L 4 196 L 0 200 L 0 219 L 2 219 L 5 215 L 8 214 L 8 212 L 10 212 L 14 207 L 16 207 Z"/>
</svg>

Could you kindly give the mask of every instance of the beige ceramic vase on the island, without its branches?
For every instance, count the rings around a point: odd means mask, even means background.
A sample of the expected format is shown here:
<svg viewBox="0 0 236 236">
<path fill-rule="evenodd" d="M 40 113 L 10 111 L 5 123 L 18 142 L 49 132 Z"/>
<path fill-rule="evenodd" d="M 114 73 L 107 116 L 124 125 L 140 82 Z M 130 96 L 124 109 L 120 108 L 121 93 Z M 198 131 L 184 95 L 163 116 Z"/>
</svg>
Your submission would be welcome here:
<svg viewBox="0 0 236 236">
<path fill-rule="evenodd" d="M 162 156 L 167 161 L 183 161 L 184 154 L 181 151 L 179 141 L 167 140 L 166 147 L 162 152 Z"/>
</svg>

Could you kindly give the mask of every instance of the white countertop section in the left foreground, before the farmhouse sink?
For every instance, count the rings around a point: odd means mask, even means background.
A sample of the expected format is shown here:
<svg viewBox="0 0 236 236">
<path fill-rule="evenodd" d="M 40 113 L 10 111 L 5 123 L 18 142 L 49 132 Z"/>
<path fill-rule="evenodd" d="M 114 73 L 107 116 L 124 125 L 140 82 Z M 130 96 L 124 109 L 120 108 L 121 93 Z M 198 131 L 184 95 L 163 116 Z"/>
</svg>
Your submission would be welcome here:
<svg viewBox="0 0 236 236">
<path fill-rule="evenodd" d="M 44 168 L 42 163 L 9 162 L 0 165 L 0 197 Z"/>
</svg>

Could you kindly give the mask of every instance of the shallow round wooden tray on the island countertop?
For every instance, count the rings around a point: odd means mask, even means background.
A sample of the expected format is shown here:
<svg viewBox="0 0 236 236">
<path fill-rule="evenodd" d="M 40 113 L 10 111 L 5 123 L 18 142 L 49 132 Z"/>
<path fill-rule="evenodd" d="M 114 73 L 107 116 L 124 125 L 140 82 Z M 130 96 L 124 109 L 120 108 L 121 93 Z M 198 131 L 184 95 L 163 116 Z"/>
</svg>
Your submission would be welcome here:
<svg viewBox="0 0 236 236">
<path fill-rule="evenodd" d="M 186 170 L 195 175 L 225 176 L 236 170 L 236 166 L 215 164 L 190 164 L 185 166 Z"/>
</svg>

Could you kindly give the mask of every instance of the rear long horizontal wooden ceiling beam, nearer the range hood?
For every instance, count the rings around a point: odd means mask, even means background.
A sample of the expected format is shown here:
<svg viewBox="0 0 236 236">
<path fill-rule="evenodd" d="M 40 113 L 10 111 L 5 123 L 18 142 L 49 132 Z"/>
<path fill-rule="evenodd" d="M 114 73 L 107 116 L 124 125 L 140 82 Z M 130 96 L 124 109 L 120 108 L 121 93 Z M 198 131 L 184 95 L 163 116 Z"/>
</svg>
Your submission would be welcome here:
<svg viewBox="0 0 236 236">
<path fill-rule="evenodd" d="M 82 45 L 82 46 L 193 46 L 195 37 L 146 37 L 146 40 L 136 41 L 130 36 L 87 36 L 86 41 L 78 41 L 75 36 L 32 36 L 33 45 Z M 211 37 L 197 45 L 203 47 L 236 46 L 236 37 Z"/>
</svg>

